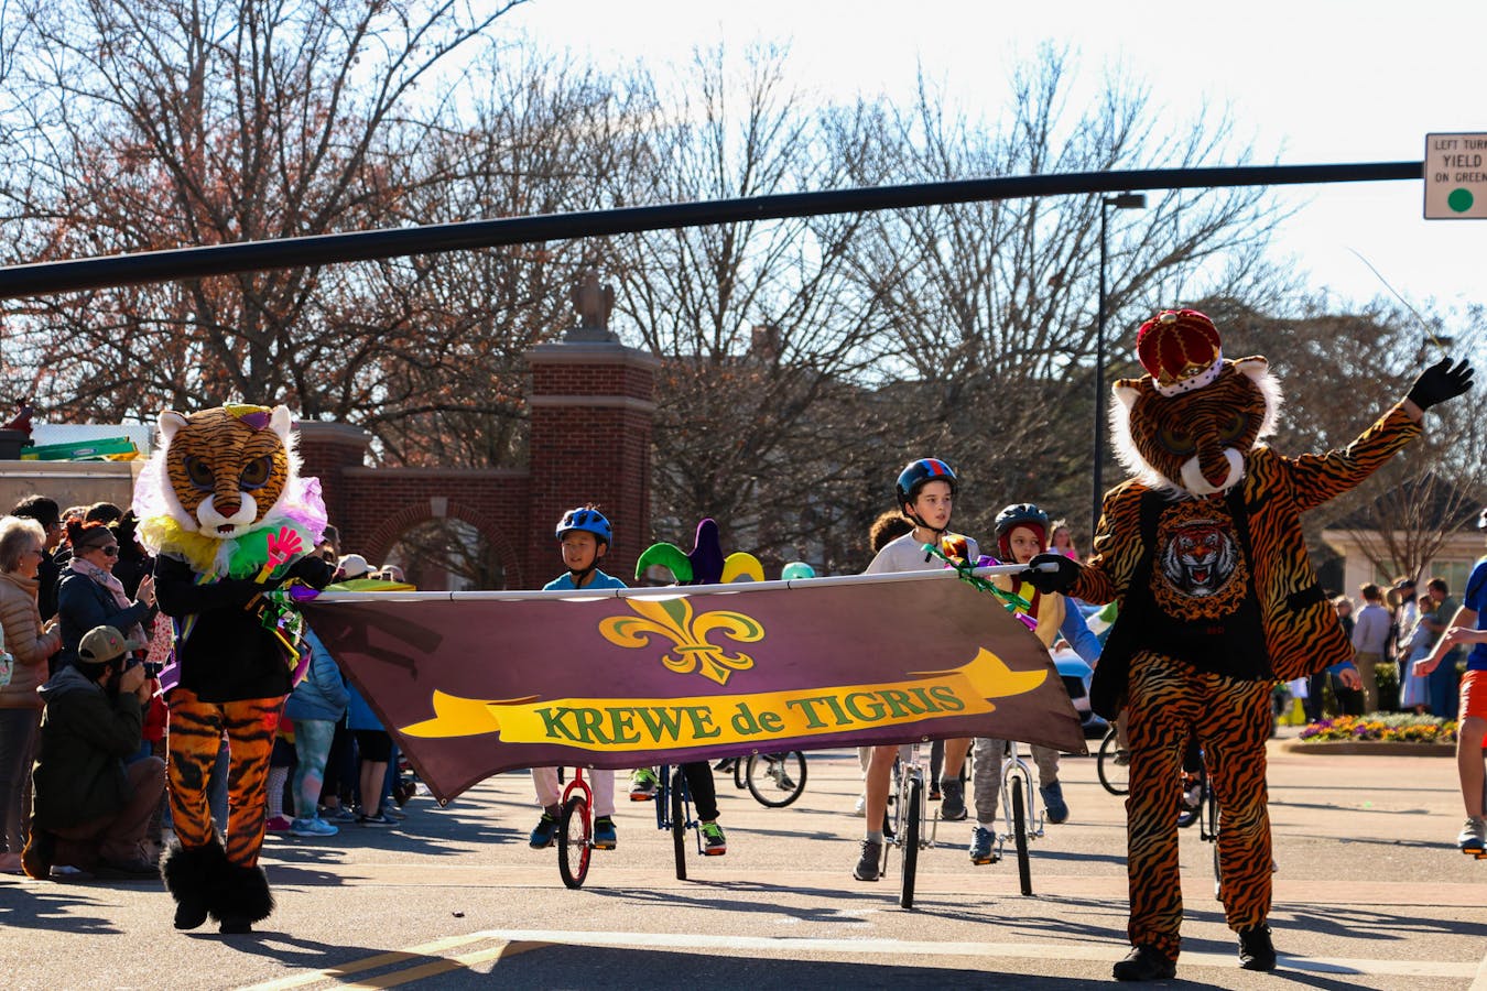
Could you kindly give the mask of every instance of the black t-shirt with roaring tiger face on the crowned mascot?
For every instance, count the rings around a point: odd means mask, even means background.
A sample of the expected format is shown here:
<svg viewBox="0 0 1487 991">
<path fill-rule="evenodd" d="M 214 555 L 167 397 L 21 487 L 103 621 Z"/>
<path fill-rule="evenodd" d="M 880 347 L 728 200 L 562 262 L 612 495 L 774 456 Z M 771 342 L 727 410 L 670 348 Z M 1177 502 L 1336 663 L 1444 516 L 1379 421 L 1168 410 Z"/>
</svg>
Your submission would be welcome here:
<svg viewBox="0 0 1487 991">
<path fill-rule="evenodd" d="M 1246 539 L 1230 499 L 1167 502 L 1157 519 L 1151 600 L 1154 649 L 1199 670 L 1270 678 Z"/>
</svg>

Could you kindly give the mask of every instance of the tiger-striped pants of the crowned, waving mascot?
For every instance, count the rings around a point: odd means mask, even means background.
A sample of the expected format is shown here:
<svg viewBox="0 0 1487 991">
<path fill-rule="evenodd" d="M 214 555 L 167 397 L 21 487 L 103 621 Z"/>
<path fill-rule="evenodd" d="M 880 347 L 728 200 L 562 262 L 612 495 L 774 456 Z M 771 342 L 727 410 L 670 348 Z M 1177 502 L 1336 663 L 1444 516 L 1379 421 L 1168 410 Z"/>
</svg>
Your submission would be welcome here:
<svg viewBox="0 0 1487 991">
<path fill-rule="evenodd" d="M 1219 900 L 1233 930 L 1270 914 L 1270 816 L 1265 740 L 1270 682 L 1199 672 L 1154 654 L 1132 658 L 1127 707 L 1130 795 L 1126 799 L 1133 946 L 1178 957 L 1182 880 L 1178 871 L 1178 780 L 1196 734 L 1219 808 Z"/>
</svg>

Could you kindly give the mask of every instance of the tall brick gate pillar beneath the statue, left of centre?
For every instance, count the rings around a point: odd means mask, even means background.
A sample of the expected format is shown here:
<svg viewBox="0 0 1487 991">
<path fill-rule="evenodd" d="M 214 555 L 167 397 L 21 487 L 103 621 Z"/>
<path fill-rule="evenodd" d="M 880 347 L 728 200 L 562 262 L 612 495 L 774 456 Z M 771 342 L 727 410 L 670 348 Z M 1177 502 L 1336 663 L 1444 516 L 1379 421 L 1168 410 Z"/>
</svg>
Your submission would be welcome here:
<svg viewBox="0 0 1487 991">
<path fill-rule="evenodd" d="M 586 502 L 614 526 L 602 569 L 626 584 L 650 545 L 650 467 L 656 368 L 608 331 L 570 331 L 562 343 L 526 352 L 531 437 L 531 538 L 526 574 L 540 587 L 562 572 L 553 527 Z"/>
</svg>

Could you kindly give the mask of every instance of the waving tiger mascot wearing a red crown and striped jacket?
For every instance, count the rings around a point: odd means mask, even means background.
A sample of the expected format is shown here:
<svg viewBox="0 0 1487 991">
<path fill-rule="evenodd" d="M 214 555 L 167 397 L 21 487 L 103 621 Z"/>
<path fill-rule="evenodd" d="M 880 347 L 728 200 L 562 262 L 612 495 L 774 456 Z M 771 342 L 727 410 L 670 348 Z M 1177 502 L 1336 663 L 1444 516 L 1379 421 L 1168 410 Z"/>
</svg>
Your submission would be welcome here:
<svg viewBox="0 0 1487 991">
<path fill-rule="evenodd" d="M 1267 361 L 1225 360 L 1207 316 L 1163 311 L 1142 324 L 1136 351 L 1148 374 L 1117 382 L 1111 403 L 1132 477 L 1105 495 L 1087 563 L 1039 554 L 1032 565 L 1050 571 L 1026 581 L 1120 603 L 1091 689 L 1100 715 L 1124 709 L 1130 746 L 1132 951 L 1114 976 L 1176 973 L 1176 782 L 1194 737 L 1224 810 L 1219 897 L 1240 966 L 1270 970 L 1270 686 L 1338 666 L 1356 678 L 1352 645 L 1307 559 L 1301 513 L 1414 440 L 1425 409 L 1471 388 L 1471 370 L 1442 361 L 1346 449 L 1286 458 L 1259 443 L 1280 406 Z"/>
</svg>

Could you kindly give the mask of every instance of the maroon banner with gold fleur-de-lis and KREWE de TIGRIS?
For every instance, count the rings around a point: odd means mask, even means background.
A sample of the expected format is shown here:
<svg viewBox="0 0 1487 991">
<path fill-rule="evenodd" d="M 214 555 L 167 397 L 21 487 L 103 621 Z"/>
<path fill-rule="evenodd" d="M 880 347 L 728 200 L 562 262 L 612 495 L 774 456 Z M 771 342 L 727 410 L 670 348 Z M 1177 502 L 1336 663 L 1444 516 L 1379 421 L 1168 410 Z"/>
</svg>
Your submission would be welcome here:
<svg viewBox="0 0 1487 991">
<path fill-rule="evenodd" d="M 952 578 L 303 606 L 436 796 L 523 767 L 953 737 L 1084 752 L 1042 643 Z"/>
</svg>

